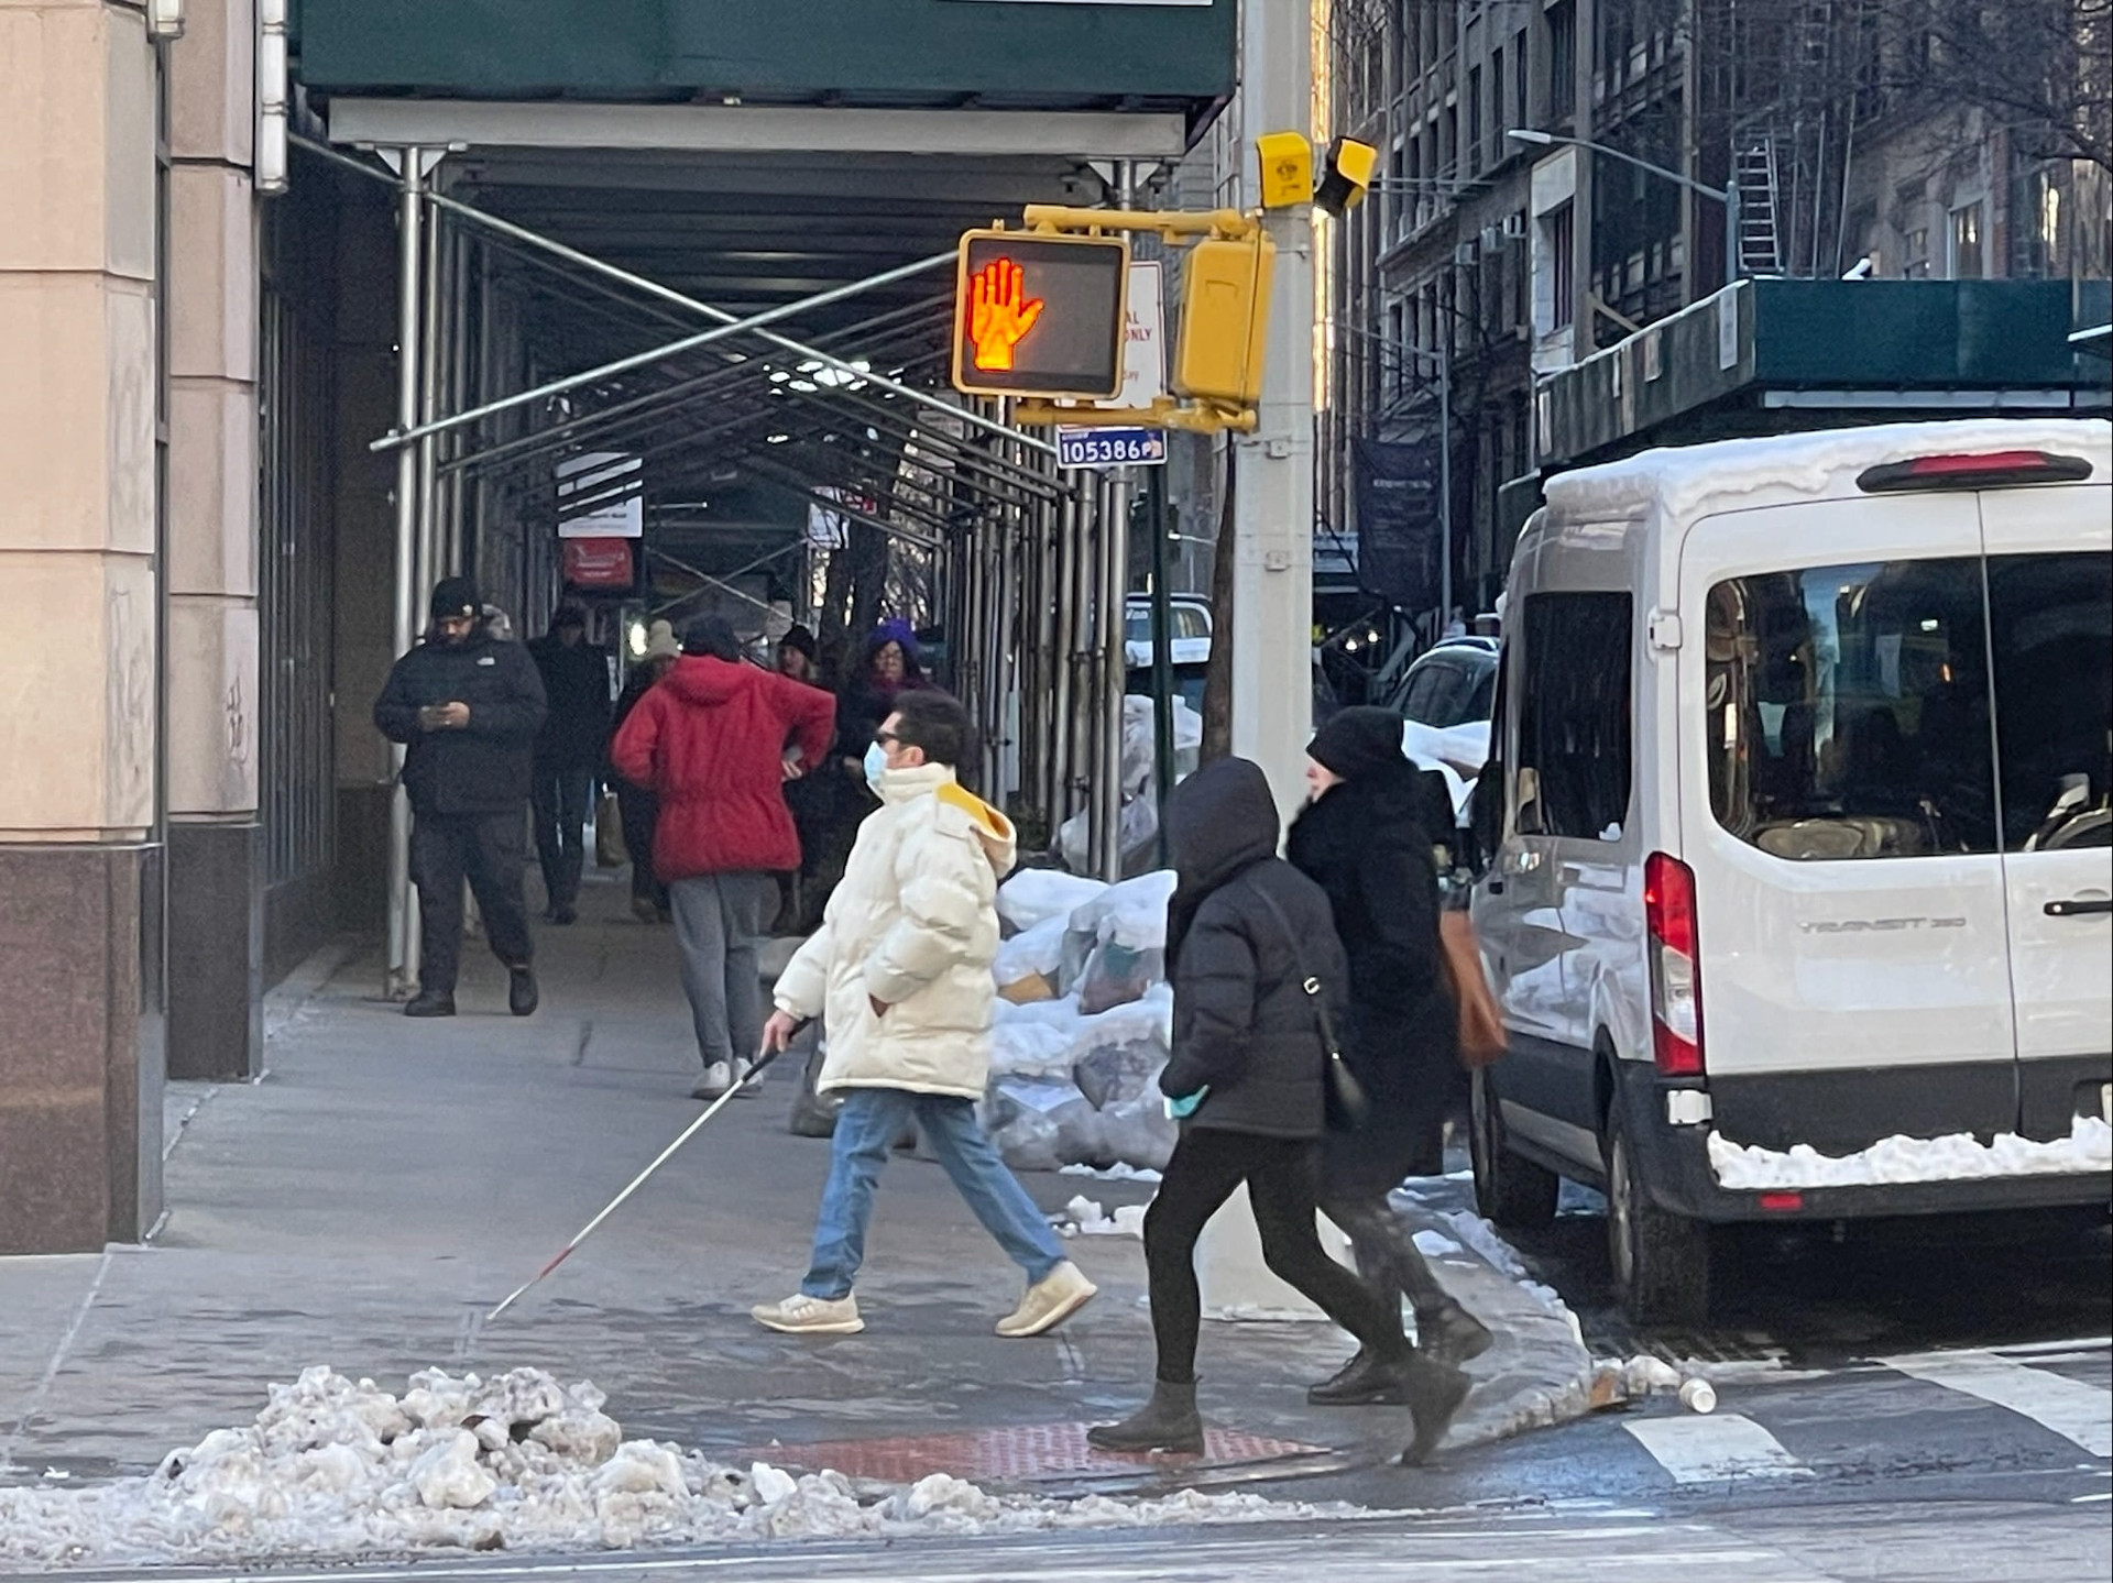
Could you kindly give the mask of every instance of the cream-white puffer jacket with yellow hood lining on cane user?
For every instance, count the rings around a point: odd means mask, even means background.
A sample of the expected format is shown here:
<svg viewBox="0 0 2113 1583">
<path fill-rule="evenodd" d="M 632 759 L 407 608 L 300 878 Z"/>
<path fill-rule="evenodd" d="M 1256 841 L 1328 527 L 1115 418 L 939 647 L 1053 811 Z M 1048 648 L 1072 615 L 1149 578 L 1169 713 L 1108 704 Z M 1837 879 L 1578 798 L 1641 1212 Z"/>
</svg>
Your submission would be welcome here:
<svg viewBox="0 0 2113 1583">
<path fill-rule="evenodd" d="M 980 1099 L 991 1074 L 997 881 L 1012 820 L 945 765 L 890 769 L 822 928 L 778 979 L 778 1008 L 822 1017 L 816 1088 Z M 887 1006 L 873 1014 L 873 1002 Z"/>
</svg>

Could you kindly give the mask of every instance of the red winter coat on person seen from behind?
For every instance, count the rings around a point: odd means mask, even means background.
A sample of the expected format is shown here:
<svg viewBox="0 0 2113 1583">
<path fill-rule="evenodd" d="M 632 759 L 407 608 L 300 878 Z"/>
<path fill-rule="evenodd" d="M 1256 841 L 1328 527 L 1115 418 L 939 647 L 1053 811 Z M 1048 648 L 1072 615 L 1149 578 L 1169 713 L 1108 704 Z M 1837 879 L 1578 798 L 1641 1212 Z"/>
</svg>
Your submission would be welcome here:
<svg viewBox="0 0 2113 1583">
<path fill-rule="evenodd" d="M 780 765 L 794 746 L 807 769 L 820 765 L 835 725 L 824 691 L 710 655 L 678 659 L 609 750 L 619 776 L 659 799 L 653 871 L 674 881 L 799 869 Z"/>
</svg>

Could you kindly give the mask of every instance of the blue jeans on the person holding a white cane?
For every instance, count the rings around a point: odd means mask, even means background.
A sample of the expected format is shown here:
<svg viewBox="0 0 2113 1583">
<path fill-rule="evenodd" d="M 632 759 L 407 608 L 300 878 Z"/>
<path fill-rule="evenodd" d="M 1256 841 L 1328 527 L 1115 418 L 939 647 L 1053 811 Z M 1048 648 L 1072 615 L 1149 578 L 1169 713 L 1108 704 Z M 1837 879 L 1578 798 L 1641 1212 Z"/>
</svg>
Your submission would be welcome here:
<svg viewBox="0 0 2113 1583">
<path fill-rule="evenodd" d="M 814 1228 L 814 1262 L 799 1289 L 809 1298 L 837 1302 L 852 1293 L 858 1266 L 866 1262 L 866 1222 L 873 1219 L 873 1190 L 881 1181 L 887 1152 L 915 1118 L 955 1192 L 1006 1255 L 1042 1281 L 1063 1264 L 1063 1243 L 1035 1200 L 1014 1179 L 976 1124 L 976 1105 L 949 1095 L 913 1095 L 906 1088 L 852 1088 L 837 1112 L 828 1186 Z"/>
</svg>

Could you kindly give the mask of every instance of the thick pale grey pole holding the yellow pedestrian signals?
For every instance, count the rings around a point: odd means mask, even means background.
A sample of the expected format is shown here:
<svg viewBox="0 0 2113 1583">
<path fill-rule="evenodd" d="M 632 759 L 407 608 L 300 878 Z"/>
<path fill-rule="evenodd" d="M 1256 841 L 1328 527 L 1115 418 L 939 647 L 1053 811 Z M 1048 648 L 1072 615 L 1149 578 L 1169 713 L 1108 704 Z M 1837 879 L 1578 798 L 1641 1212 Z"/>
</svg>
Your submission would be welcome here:
<svg viewBox="0 0 2113 1583">
<path fill-rule="evenodd" d="M 1261 205 L 1255 133 L 1312 125 L 1308 0 L 1245 0 L 1240 190 Z M 1232 750 L 1261 765 L 1289 818 L 1306 797 L 1312 729 L 1314 256 L 1304 203 L 1264 218 L 1276 241 L 1259 423 L 1232 440 L 1234 497 Z"/>
</svg>

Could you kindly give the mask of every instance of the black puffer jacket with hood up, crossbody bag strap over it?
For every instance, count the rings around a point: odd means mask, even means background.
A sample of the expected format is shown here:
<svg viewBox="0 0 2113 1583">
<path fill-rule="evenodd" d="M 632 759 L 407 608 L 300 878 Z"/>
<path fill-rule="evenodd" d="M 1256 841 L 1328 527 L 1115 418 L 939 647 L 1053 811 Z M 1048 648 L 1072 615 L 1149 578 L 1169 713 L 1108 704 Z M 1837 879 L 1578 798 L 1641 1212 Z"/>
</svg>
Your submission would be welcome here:
<svg viewBox="0 0 2113 1583">
<path fill-rule="evenodd" d="M 1166 833 L 1179 883 L 1166 909 L 1175 1038 L 1160 1091 L 1211 1091 L 1190 1126 L 1319 1137 L 1327 1044 L 1304 979 L 1319 976 L 1342 1006 L 1348 972 L 1327 896 L 1276 856 L 1276 803 L 1245 759 L 1181 782 Z"/>
</svg>

